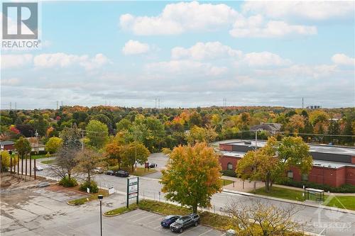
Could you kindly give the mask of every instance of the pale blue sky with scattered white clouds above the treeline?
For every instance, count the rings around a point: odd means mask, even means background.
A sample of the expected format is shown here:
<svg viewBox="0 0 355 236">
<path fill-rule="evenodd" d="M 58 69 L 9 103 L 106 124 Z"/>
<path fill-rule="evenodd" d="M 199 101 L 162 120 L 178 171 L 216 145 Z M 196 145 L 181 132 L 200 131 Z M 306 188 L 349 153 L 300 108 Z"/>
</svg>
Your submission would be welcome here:
<svg viewBox="0 0 355 236">
<path fill-rule="evenodd" d="M 355 106 L 355 1 L 42 1 L 1 108 Z M 11 19 L 10 19 L 11 21 Z"/>
</svg>

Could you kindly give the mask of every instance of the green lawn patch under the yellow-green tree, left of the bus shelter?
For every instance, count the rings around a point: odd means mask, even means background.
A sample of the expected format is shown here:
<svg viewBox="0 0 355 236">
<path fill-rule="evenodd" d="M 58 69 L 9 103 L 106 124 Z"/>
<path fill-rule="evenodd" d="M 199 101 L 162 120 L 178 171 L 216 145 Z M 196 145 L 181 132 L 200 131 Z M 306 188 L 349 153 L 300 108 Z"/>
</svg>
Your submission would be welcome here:
<svg viewBox="0 0 355 236">
<path fill-rule="evenodd" d="M 254 193 L 251 191 L 250 193 Z M 297 191 L 293 189 L 283 189 L 273 186 L 270 192 L 265 191 L 265 188 L 256 189 L 255 194 L 263 196 L 271 196 L 274 198 L 284 198 L 293 201 L 304 201 L 305 197 L 302 196 L 303 191 Z"/>
</svg>

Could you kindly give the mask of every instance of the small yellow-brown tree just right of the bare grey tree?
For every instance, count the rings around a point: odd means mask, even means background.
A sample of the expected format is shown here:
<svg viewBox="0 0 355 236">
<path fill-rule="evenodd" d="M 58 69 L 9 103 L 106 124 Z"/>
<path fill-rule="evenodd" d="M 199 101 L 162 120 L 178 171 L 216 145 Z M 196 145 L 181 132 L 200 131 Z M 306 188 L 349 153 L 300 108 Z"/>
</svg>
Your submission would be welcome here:
<svg viewBox="0 0 355 236">
<path fill-rule="evenodd" d="M 75 157 L 77 163 L 74 171 L 86 174 L 86 181 L 92 181 L 92 176 L 96 174 L 93 169 L 96 167 L 104 167 L 104 156 L 99 152 L 90 149 L 84 149 L 82 152 L 77 152 Z"/>
</svg>

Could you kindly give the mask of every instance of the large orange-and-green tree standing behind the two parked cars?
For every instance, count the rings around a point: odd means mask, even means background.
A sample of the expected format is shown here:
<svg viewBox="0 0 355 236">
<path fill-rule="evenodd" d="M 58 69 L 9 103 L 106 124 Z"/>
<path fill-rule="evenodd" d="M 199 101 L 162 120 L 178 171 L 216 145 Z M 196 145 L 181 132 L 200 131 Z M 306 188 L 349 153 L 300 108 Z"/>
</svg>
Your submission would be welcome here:
<svg viewBox="0 0 355 236">
<path fill-rule="evenodd" d="M 166 167 L 160 181 L 165 198 L 191 207 L 194 213 L 197 207 L 211 206 L 212 195 L 221 191 L 219 159 L 205 142 L 175 147 Z"/>
</svg>

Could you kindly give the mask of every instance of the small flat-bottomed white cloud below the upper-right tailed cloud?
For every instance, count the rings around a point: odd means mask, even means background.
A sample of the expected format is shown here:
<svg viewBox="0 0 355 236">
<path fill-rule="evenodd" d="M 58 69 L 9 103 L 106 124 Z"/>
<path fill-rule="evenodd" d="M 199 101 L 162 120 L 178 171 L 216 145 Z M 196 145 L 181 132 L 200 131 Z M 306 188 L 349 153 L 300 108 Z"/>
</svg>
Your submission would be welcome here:
<svg viewBox="0 0 355 236">
<path fill-rule="evenodd" d="M 250 67 L 266 67 L 290 65 L 291 61 L 271 52 L 251 52 L 244 55 L 237 63 L 247 64 Z"/>
</svg>

